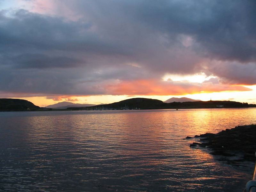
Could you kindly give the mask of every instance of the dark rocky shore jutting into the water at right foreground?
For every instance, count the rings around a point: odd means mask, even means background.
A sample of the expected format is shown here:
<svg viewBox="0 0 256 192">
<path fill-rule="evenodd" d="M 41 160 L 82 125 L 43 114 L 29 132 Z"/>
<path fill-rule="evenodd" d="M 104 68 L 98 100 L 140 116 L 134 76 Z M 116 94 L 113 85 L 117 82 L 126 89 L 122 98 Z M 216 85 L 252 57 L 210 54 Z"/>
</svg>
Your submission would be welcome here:
<svg viewBox="0 0 256 192">
<path fill-rule="evenodd" d="M 199 141 L 191 143 L 191 148 L 208 148 L 212 155 L 219 157 L 218 160 L 238 165 L 255 161 L 256 124 L 236 126 L 217 134 L 205 133 L 186 137 L 186 139 L 192 138 L 197 138 Z"/>
</svg>

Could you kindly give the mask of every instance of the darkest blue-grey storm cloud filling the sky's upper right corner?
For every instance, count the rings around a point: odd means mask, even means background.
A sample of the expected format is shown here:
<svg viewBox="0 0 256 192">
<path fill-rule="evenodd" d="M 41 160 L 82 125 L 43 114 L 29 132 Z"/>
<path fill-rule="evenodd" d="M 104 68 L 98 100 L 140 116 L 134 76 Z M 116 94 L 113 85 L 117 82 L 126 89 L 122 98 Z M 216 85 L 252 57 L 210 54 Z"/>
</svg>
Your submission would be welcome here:
<svg viewBox="0 0 256 192">
<path fill-rule="evenodd" d="M 138 12 L 142 21 L 170 39 L 192 36 L 201 46 L 195 50 L 206 57 L 256 59 L 256 1 L 144 1 Z"/>
</svg>

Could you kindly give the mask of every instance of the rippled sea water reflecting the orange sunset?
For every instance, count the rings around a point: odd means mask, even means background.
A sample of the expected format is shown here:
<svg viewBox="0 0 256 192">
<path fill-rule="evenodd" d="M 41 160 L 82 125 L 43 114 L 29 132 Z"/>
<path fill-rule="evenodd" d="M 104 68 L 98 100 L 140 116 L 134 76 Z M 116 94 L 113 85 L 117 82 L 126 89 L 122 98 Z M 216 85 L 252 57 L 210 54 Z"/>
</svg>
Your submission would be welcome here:
<svg viewBox="0 0 256 192">
<path fill-rule="evenodd" d="M 256 109 L 0 112 L 0 191 L 242 191 L 250 174 L 183 140 Z"/>
</svg>

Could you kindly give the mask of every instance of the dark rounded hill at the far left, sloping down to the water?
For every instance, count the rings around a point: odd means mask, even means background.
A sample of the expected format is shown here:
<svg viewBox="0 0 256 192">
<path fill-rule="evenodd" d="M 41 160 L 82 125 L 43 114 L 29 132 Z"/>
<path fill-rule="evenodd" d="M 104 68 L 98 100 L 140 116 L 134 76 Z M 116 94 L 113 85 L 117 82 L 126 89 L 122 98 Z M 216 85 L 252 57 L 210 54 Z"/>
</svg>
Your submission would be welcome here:
<svg viewBox="0 0 256 192">
<path fill-rule="evenodd" d="M 23 99 L 0 99 L 0 111 L 34 111 L 40 107 Z"/>
</svg>

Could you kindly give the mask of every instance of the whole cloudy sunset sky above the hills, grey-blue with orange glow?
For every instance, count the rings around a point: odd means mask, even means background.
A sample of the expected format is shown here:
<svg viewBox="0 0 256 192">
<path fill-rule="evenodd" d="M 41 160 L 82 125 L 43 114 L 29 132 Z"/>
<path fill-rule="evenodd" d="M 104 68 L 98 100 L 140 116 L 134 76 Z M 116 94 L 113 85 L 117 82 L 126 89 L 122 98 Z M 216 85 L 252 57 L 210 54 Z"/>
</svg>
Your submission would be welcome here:
<svg viewBox="0 0 256 192">
<path fill-rule="evenodd" d="M 0 0 L 0 98 L 256 103 L 255 0 Z"/>
</svg>

